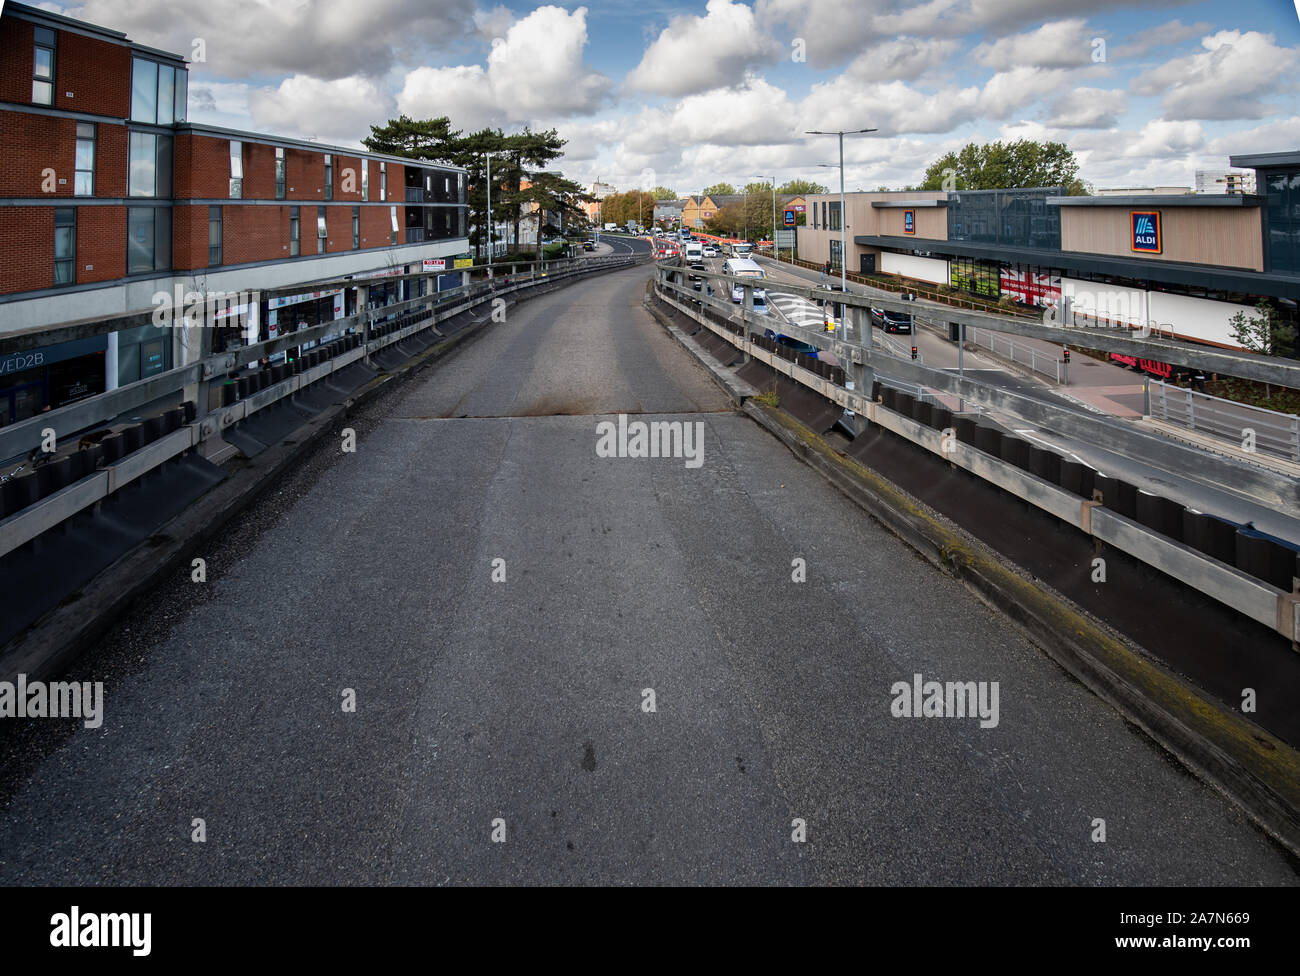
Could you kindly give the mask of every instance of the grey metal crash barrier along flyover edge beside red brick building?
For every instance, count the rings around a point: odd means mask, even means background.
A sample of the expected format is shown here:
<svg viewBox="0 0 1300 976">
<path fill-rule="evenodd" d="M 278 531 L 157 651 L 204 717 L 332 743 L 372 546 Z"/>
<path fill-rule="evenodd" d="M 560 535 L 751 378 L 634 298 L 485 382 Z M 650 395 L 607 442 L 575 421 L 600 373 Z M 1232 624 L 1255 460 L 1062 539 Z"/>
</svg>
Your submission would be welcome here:
<svg viewBox="0 0 1300 976">
<path fill-rule="evenodd" d="M 203 441 L 439 322 L 497 299 L 524 296 L 569 278 L 632 266 L 641 260 L 641 256 L 629 255 L 547 261 L 545 272 L 523 264 L 520 266 L 528 268 L 526 277 L 485 279 L 358 312 L 209 355 L 8 426 L 0 430 L 0 457 L 27 455 L 29 461 L 17 463 L 17 472 L 0 482 L 0 558 L 195 450 Z M 441 273 L 400 277 L 426 278 Z M 365 285 L 365 279 L 344 278 L 313 287 L 356 287 L 363 292 L 359 304 L 364 307 Z M 292 290 L 283 289 L 286 292 Z M 304 346 L 311 348 L 286 356 L 283 363 L 244 372 L 246 366 Z M 174 403 L 159 409 L 160 400 Z M 144 416 L 138 421 L 131 418 L 120 430 L 91 430 L 136 412 Z M 88 430 L 90 434 L 83 433 Z M 78 450 L 62 455 L 49 450 L 66 444 L 70 438 L 78 438 Z"/>
</svg>

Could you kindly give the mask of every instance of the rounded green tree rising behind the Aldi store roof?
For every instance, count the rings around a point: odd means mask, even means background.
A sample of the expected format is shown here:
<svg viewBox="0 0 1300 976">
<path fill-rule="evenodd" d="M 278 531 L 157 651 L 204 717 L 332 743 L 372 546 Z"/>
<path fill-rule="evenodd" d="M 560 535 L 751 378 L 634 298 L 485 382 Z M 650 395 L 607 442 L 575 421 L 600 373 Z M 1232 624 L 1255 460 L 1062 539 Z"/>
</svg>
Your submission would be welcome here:
<svg viewBox="0 0 1300 976">
<path fill-rule="evenodd" d="M 1079 161 L 1065 143 L 1017 139 L 1013 143 L 967 143 L 926 168 L 920 190 L 1010 190 L 1063 186 L 1070 196 L 1091 187 L 1079 179 Z"/>
</svg>

